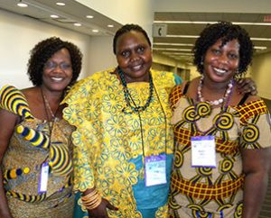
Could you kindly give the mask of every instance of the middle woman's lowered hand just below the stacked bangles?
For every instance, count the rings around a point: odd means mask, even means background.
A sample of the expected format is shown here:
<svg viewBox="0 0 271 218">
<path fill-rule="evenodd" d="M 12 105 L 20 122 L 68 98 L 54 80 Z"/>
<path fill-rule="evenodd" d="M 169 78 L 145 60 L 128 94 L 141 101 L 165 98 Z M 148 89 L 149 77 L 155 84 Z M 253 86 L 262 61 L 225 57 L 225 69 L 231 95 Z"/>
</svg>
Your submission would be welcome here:
<svg viewBox="0 0 271 218">
<path fill-rule="evenodd" d="M 110 204 L 107 199 L 102 198 L 102 202 L 98 205 L 98 207 L 92 210 L 88 210 L 89 218 L 109 218 L 107 214 L 107 208 L 113 211 L 118 210 L 118 208 Z"/>
</svg>

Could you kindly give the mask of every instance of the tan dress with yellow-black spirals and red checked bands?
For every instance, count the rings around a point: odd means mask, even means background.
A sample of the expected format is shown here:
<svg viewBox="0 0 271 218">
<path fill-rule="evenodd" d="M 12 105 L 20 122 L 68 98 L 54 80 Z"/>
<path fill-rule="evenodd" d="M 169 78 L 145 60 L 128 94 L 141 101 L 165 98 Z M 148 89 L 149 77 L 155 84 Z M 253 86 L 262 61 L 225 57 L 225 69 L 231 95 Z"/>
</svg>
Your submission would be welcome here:
<svg viewBox="0 0 271 218">
<path fill-rule="evenodd" d="M 244 175 L 240 149 L 270 146 L 270 118 L 262 100 L 211 108 L 182 95 L 171 95 L 176 139 L 170 205 L 175 217 L 242 217 Z M 212 135 L 216 168 L 192 167 L 191 137 Z"/>
</svg>

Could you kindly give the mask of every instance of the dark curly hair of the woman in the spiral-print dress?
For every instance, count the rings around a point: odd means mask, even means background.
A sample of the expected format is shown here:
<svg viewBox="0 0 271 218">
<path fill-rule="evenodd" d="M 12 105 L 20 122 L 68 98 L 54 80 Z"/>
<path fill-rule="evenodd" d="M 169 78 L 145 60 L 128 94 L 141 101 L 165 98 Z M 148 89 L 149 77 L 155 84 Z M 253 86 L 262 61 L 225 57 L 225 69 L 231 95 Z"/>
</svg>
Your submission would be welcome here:
<svg viewBox="0 0 271 218">
<path fill-rule="evenodd" d="M 251 64 L 252 61 L 254 51 L 253 43 L 245 29 L 230 22 L 221 21 L 215 24 L 208 24 L 207 27 L 201 32 L 200 37 L 195 42 L 195 46 L 193 48 L 194 65 L 202 74 L 202 60 L 205 58 L 206 51 L 210 48 L 210 46 L 220 39 L 222 39 L 221 46 L 225 45 L 229 41 L 238 40 L 240 44 L 239 66 L 236 77 L 244 76 L 248 70 L 248 65 Z"/>
</svg>

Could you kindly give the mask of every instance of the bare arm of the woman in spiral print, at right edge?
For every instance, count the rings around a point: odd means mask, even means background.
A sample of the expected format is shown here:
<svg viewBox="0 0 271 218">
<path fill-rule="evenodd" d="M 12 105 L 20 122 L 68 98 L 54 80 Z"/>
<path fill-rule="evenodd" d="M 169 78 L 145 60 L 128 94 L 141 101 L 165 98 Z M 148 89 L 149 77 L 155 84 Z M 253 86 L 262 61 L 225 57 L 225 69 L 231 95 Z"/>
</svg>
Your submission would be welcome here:
<svg viewBox="0 0 271 218">
<path fill-rule="evenodd" d="M 266 195 L 271 148 L 242 150 L 244 186 L 243 218 L 257 218 Z"/>
</svg>

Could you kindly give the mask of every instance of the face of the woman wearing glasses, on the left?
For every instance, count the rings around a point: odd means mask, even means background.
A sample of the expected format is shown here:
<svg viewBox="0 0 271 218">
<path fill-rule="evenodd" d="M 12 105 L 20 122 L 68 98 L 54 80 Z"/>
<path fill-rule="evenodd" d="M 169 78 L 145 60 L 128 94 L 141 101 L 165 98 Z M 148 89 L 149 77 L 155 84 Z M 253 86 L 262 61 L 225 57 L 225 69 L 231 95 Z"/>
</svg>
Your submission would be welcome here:
<svg viewBox="0 0 271 218">
<path fill-rule="evenodd" d="M 43 68 L 42 86 L 51 91 L 63 91 L 72 78 L 70 52 L 61 49 L 48 59 Z"/>
</svg>

